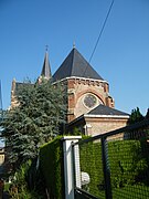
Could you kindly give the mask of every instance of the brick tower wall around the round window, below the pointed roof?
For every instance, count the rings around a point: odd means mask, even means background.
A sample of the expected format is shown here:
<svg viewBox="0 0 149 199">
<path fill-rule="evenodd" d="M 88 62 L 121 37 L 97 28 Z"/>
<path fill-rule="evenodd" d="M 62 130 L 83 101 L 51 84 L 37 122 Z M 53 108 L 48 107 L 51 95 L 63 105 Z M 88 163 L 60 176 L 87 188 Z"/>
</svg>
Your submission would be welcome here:
<svg viewBox="0 0 149 199">
<path fill-rule="evenodd" d="M 95 108 L 99 104 L 114 107 L 114 100 L 109 96 L 109 85 L 106 81 L 100 80 L 89 80 L 72 77 L 67 78 L 67 93 L 68 93 L 68 122 L 77 118 L 82 114 L 88 113 L 92 108 L 87 108 L 83 104 L 85 94 L 92 93 L 97 97 L 97 104 L 93 107 Z"/>
</svg>

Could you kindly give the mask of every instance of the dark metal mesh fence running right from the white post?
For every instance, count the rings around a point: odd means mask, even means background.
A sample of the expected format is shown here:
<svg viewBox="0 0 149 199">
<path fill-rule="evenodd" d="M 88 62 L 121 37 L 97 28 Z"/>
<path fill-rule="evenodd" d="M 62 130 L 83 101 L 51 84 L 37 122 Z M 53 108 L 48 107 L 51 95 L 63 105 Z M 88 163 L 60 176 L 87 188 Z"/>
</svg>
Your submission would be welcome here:
<svg viewBox="0 0 149 199">
<path fill-rule="evenodd" d="M 72 149 L 75 198 L 149 198 L 148 119 L 75 140 Z"/>
</svg>

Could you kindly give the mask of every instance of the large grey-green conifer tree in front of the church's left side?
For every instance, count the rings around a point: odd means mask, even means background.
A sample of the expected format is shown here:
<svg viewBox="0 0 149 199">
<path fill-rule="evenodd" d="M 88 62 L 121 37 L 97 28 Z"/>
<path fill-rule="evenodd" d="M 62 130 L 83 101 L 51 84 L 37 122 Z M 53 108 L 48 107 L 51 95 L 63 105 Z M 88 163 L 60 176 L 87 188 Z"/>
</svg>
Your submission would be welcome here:
<svg viewBox="0 0 149 199">
<path fill-rule="evenodd" d="M 39 147 L 60 134 L 66 117 L 66 92 L 64 85 L 42 81 L 22 84 L 17 100 L 19 106 L 8 111 L 1 124 L 14 167 L 35 158 Z"/>
</svg>

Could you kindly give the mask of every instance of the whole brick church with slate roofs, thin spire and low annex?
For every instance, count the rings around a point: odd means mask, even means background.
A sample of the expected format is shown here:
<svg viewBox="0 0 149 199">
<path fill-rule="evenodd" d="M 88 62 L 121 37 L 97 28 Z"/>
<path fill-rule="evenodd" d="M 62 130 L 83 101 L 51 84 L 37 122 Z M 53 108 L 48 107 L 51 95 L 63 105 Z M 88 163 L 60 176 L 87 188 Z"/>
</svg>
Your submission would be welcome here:
<svg viewBox="0 0 149 199">
<path fill-rule="evenodd" d="M 109 84 L 73 46 L 57 71 L 52 75 L 49 53 L 45 52 L 41 77 L 62 82 L 67 88 L 67 125 L 71 133 L 78 128 L 85 135 L 99 135 L 127 125 L 129 114 L 115 109 Z M 39 77 L 39 82 L 41 81 Z M 11 107 L 17 105 L 15 93 L 24 83 L 13 80 Z"/>
</svg>

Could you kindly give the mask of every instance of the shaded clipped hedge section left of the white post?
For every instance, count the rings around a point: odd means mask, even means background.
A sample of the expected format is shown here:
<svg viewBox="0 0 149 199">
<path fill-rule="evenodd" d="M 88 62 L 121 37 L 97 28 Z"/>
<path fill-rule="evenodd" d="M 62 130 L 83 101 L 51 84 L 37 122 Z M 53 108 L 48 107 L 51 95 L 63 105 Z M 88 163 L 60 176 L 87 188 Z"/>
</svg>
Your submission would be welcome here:
<svg viewBox="0 0 149 199">
<path fill-rule="evenodd" d="M 40 166 L 50 198 L 64 198 L 63 151 L 61 137 L 40 148 Z"/>
</svg>

